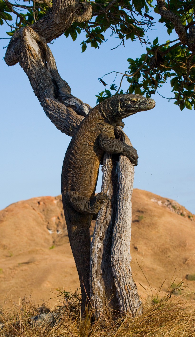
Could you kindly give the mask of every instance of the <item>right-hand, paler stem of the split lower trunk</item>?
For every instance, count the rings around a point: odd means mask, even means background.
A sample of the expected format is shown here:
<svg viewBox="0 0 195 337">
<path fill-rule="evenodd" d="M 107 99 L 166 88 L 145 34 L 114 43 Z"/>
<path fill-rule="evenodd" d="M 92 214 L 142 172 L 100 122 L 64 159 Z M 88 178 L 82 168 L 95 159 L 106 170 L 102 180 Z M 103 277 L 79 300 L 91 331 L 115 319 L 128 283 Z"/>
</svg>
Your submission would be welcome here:
<svg viewBox="0 0 195 337">
<path fill-rule="evenodd" d="M 125 135 L 125 143 L 132 146 Z M 112 229 L 111 265 L 115 281 L 116 296 L 119 303 L 119 311 L 142 313 L 141 301 L 137 293 L 137 287 L 132 278 L 130 267 L 130 241 L 133 191 L 134 166 L 127 157 L 120 156 L 118 162 L 118 192 L 116 197 L 116 216 Z"/>
</svg>

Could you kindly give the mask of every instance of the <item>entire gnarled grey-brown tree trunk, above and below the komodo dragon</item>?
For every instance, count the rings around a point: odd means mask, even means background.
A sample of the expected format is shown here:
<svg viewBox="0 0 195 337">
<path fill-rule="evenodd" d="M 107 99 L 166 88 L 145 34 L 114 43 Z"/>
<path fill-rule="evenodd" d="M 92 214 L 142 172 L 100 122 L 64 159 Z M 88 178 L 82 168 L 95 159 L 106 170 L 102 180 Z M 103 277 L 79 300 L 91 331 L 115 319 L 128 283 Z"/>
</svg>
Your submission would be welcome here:
<svg viewBox="0 0 195 337">
<path fill-rule="evenodd" d="M 50 12 L 42 21 L 15 32 L 5 61 L 8 65 L 20 62 L 47 117 L 59 130 L 72 136 L 91 107 L 71 95 L 68 83 L 58 73 L 46 41 L 63 32 L 64 28 L 59 28 L 60 20 L 65 20 L 63 24 L 66 29 L 73 20 L 89 20 L 91 5 L 82 2 L 83 13 L 77 15 L 75 8 L 72 12 L 70 10 L 75 5 L 74 1 L 65 1 L 70 14 L 64 17 L 64 0 L 58 2 L 60 10 L 55 0 L 51 11 L 55 14 L 55 20 Z M 130 144 L 121 129 L 116 130 L 116 137 Z M 134 316 L 142 312 L 130 268 L 133 176 L 134 167 L 128 158 L 104 156 L 102 191 L 109 191 L 112 202 L 102 207 L 98 214 L 91 250 L 91 298 L 96 317 L 103 317 L 104 313 L 112 316 L 128 312 Z"/>
</svg>

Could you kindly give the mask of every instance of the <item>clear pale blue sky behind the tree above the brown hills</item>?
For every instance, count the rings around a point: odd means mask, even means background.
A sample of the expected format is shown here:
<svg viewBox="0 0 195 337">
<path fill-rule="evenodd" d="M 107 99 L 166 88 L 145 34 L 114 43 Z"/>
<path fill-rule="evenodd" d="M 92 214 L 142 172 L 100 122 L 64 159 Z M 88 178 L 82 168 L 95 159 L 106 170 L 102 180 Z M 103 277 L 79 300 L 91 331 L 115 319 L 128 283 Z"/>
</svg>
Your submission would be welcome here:
<svg viewBox="0 0 195 337">
<path fill-rule="evenodd" d="M 159 29 L 160 27 L 160 29 Z M 169 39 L 162 24 L 151 31 L 151 40 Z M 1 26 L 1 37 L 4 26 Z M 6 37 L 6 36 L 5 36 Z M 176 36 L 173 35 L 174 39 Z M 115 37 L 109 38 L 99 49 L 88 47 L 81 53 L 80 42 L 61 36 L 50 44 L 58 71 L 72 89 L 72 94 L 91 106 L 95 95 L 104 90 L 98 77 L 128 68 L 127 58 L 145 52 L 138 42 L 127 41 L 126 48 Z M 8 40 L 0 40 L 2 46 Z M 44 114 L 33 93 L 29 80 L 19 64 L 8 67 L 0 49 L 0 209 L 19 200 L 41 195 L 61 193 L 60 180 L 63 158 L 70 137 L 62 134 Z M 113 83 L 115 74 L 105 79 Z M 127 88 L 124 84 L 123 88 Z M 107 86 L 109 89 L 109 86 Z M 165 84 L 160 93 L 171 97 Z M 195 112 L 180 109 L 173 102 L 153 95 L 156 107 L 139 112 L 124 120 L 124 131 L 137 149 L 139 159 L 135 167 L 134 187 L 176 200 L 195 213 Z M 97 191 L 101 189 L 101 175 Z"/>
</svg>

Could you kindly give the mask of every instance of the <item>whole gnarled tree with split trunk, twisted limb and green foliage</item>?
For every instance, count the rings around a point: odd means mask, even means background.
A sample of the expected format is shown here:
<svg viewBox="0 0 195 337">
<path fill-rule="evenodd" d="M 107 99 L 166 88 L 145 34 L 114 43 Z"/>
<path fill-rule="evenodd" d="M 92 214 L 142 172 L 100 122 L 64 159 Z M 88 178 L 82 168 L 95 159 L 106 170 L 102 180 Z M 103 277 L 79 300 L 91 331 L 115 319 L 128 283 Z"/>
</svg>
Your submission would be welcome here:
<svg viewBox="0 0 195 337">
<path fill-rule="evenodd" d="M 150 97 L 157 89 L 171 79 L 170 83 L 174 92 L 174 104 L 192 109 L 195 108 L 194 92 L 194 5 L 193 1 L 168 1 L 168 4 L 163 0 L 158 0 L 154 11 L 160 14 L 159 22 L 165 23 L 167 31 L 171 34 L 174 29 L 178 34 L 178 39 L 165 41 L 159 45 L 158 38 L 153 42 L 145 39 L 145 33 L 154 25 L 153 17 L 151 16 L 149 7 L 153 7 L 150 0 L 134 0 L 129 1 L 95 1 L 95 2 L 74 2 L 73 0 L 55 0 L 53 4 L 49 1 L 36 0 L 29 1 L 29 6 L 22 4 L 13 4 L 7 0 L 0 0 L 0 24 L 6 22 L 11 31 L 7 32 L 12 38 L 7 47 L 5 61 L 8 65 L 20 63 L 26 72 L 35 95 L 39 99 L 43 110 L 56 127 L 68 135 L 73 135 L 79 123 L 85 118 L 91 107 L 83 103 L 80 99 L 71 95 L 71 89 L 64 81 L 57 70 L 54 57 L 47 43 L 51 42 L 61 34 L 65 36 L 71 35 L 72 39 L 76 39 L 77 34 L 84 30 L 86 32 L 86 40 L 82 42 L 82 52 L 90 43 L 91 47 L 99 48 L 99 45 L 104 41 L 104 33 L 111 29 L 111 34 L 116 34 L 120 39 L 120 44 L 124 44 L 126 39 L 139 39 L 141 43 L 146 45 L 146 53 L 142 54 L 139 59 L 128 59 L 130 64 L 129 70 L 122 74 L 121 84 L 119 88 L 115 83 L 110 85 L 110 90 L 113 94 L 123 93 L 122 81 L 127 79 L 129 82 L 128 92 L 145 94 Z M 20 8 L 26 10 L 24 14 L 20 12 Z M 11 13 L 11 14 L 10 14 Z M 15 23 L 9 24 L 14 15 Z M 189 33 L 187 30 L 189 29 Z M 172 72 L 170 72 L 172 71 Z M 104 80 L 100 81 L 106 86 Z M 97 102 L 111 95 L 110 90 L 105 89 L 97 95 Z M 125 135 L 119 132 L 118 137 L 125 138 Z M 127 142 L 127 141 L 126 141 Z M 103 254 L 105 246 L 102 245 L 101 257 L 102 261 L 99 267 L 102 268 L 102 263 L 107 266 L 107 275 L 112 275 L 113 287 L 116 288 L 116 296 L 111 299 L 110 305 L 121 312 L 130 311 L 134 315 L 137 311 L 141 313 L 141 303 L 139 301 L 136 286 L 134 283 L 129 284 L 131 279 L 131 270 L 125 278 L 121 278 L 121 270 L 117 264 L 117 254 L 120 252 L 121 241 L 124 236 L 130 241 L 127 232 L 124 234 L 119 232 L 124 230 L 125 226 L 121 226 L 122 221 L 126 217 L 126 223 L 130 224 L 131 203 L 124 200 L 121 196 L 124 195 L 125 182 L 122 177 L 131 177 L 128 182 L 130 190 L 128 195 L 131 196 L 133 168 L 127 165 L 125 158 L 120 157 L 119 160 L 114 160 L 109 156 L 105 156 L 104 163 L 104 191 L 115 186 L 113 181 L 120 181 L 121 188 L 113 191 L 115 200 L 112 202 L 112 209 L 102 209 L 96 225 L 95 239 L 98 239 L 98 231 L 103 224 L 105 235 L 100 237 L 108 239 L 104 240 L 107 244 L 110 254 Z M 116 176 L 116 169 L 118 176 Z M 126 176 L 125 176 L 126 174 Z M 112 191 L 111 191 L 112 192 Z M 121 202 L 124 203 L 123 207 Z M 120 205 L 119 205 L 120 204 Z M 126 207 L 126 212 L 123 215 L 123 220 L 120 217 L 121 209 Z M 105 212 L 106 214 L 105 218 Z M 106 222 L 105 219 L 110 219 Z M 99 226 L 99 227 L 98 227 Z M 114 233 L 112 237 L 112 231 Z M 99 232 L 102 233 L 101 231 Z M 130 227 L 129 227 L 130 233 Z M 120 234 L 120 235 L 119 235 Z M 118 237 L 117 237 L 118 236 Z M 116 240 L 117 238 L 117 240 Z M 98 247 L 98 242 L 94 239 L 94 249 Z M 113 244 L 111 240 L 113 239 Z M 124 251 L 128 247 L 123 245 Z M 101 244 L 101 243 L 100 243 Z M 111 248 L 112 246 L 112 248 Z M 107 248 L 106 248 L 107 249 Z M 112 251 L 111 251 L 112 249 Z M 94 250 L 95 261 L 97 251 Z M 92 250 L 93 254 L 93 250 Z M 103 255 L 102 255 L 103 254 Z M 127 265 L 130 263 L 130 255 L 123 255 Z M 105 258 L 105 259 L 104 259 Z M 121 255 L 120 255 L 121 258 Z M 100 260 L 99 260 L 100 261 Z M 109 264 L 109 265 L 107 265 Z M 106 286 L 102 292 L 102 284 L 106 285 L 102 278 L 102 283 L 97 280 L 94 272 L 97 269 L 98 276 L 102 275 L 101 270 L 98 270 L 98 264 L 92 264 L 93 274 L 91 277 L 92 300 L 93 290 L 95 286 L 100 284 L 97 289 L 94 302 L 97 304 L 97 316 L 100 315 L 102 308 L 107 305 L 107 310 L 110 310 L 108 303 L 110 294 Z M 113 267 L 113 268 L 112 268 Z M 125 265 L 122 264 L 122 267 Z M 95 269 L 94 269 L 95 268 Z M 97 275 L 97 274 L 96 274 Z M 132 279 L 131 279 L 132 280 Z M 120 281 L 120 282 L 119 282 Z M 109 278 L 107 279 L 109 282 Z M 118 284 L 119 282 L 119 284 Z M 133 282 L 133 281 L 132 281 Z M 127 284 L 129 288 L 127 288 Z M 112 288 L 113 288 L 112 287 Z M 131 294 L 130 288 L 133 290 L 132 297 L 126 295 Z M 99 296 L 98 302 L 98 291 Z M 106 296 L 105 296 L 106 294 Z M 103 302 L 102 298 L 107 299 Z M 94 304 L 95 304 L 94 303 Z"/>
</svg>

